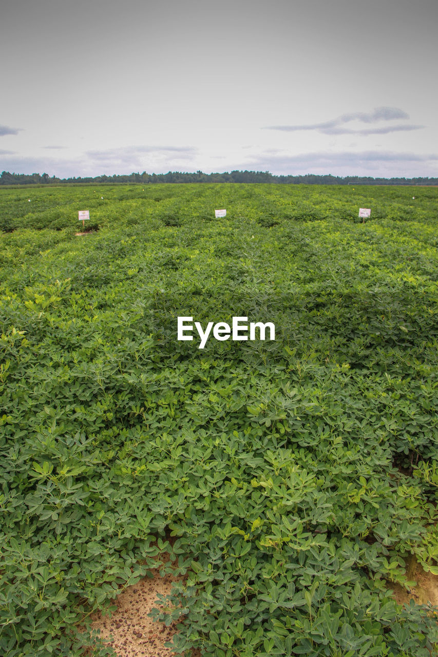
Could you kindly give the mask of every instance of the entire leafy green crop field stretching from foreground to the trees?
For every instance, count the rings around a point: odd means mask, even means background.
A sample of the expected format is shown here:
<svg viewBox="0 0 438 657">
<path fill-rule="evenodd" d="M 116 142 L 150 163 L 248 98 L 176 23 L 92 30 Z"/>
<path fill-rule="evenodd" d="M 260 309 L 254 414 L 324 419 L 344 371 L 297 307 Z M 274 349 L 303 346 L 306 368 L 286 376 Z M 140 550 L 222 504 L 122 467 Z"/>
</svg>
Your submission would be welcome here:
<svg viewBox="0 0 438 657">
<path fill-rule="evenodd" d="M 438 575 L 437 202 L 0 190 L 2 655 L 112 654 L 90 613 L 157 566 L 177 654 L 437 654 L 391 591 Z"/>
</svg>

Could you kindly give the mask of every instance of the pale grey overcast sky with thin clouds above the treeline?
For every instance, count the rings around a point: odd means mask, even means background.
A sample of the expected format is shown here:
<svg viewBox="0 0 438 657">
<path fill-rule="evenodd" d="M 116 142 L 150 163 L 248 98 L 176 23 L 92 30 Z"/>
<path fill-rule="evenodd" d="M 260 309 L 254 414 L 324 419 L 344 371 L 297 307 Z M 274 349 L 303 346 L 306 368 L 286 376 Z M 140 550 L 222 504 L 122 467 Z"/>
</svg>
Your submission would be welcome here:
<svg viewBox="0 0 438 657">
<path fill-rule="evenodd" d="M 437 0 L 0 0 L 0 171 L 438 176 Z"/>
</svg>

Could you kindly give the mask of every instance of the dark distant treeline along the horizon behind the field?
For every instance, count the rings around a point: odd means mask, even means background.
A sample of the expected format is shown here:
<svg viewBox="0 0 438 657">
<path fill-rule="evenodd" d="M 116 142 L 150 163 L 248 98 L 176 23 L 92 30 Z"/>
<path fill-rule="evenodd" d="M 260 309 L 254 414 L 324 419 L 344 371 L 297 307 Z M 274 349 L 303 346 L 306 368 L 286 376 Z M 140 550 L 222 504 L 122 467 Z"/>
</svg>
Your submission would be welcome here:
<svg viewBox="0 0 438 657">
<path fill-rule="evenodd" d="M 0 185 L 54 185 L 57 183 L 284 183 L 286 185 L 438 185 L 438 178 L 373 178 L 371 176 L 347 175 L 274 175 L 269 171 L 231 171 L 228 173 L 130 173 L 128 175 L 97 175 L 91 177 L 57 178 L 48 173 L 9 173 L 0 175 Z"/>
</svg>

